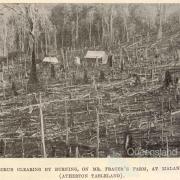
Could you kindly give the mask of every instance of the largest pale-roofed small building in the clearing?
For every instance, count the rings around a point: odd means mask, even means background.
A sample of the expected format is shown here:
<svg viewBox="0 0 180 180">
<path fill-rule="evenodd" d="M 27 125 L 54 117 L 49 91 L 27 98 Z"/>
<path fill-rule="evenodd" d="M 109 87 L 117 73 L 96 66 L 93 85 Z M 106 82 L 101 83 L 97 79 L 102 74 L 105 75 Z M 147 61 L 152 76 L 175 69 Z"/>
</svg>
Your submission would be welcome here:
<svg viewBox="0 0 180 180">
<path fill-rule="evenodd" d="M 108 55 L 105 51 L 87 51 L 86 55 L 84 56 L 85 64 L 91 66 L 98 66 L 101 64 L 106 64 L 108 61 Z"/>
</svg>

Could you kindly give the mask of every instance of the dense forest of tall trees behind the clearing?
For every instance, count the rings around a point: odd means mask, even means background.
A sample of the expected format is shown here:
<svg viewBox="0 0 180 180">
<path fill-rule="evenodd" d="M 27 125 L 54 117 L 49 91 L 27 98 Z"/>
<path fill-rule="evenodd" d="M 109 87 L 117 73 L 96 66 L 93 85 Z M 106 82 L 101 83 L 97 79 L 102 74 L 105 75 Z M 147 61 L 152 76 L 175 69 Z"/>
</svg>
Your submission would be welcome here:
<svg viewBox="0 0 180 180">
<path fill-rule="evenodd" d="M 1 56 L 32 54 L 32 42 L 39 58 L 60 48 L 107 48 L 180 30 L 180 4 L 1 4 L 0 10 Z"/>
</svg>

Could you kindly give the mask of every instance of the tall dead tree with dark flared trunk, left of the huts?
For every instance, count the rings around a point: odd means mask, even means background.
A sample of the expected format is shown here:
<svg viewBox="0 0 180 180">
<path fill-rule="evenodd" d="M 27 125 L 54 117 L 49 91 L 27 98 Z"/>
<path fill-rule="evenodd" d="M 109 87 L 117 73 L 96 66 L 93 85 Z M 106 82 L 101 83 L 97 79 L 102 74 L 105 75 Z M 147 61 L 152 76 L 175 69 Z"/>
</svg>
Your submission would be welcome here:
<svg viewBox="0 0 180 180">
<path fill-rule="evenodd" d="M 9 4 L 9 5 L 3 4 L 3 7 L 8 11 L 13 12 L 13 17 L 10 17 L 10 20 L 11 21 L 13 20 L 13 22 L 15 22 L 15 26 L 16 26 L 15 29 L 17 30 L 19 29 L 17 31 L 18 44 L 20 43 L 20 45 L 18 45 L 18 48 L 21 47 L 20 50 L 23 51 L 23 53 L 26 53 L 27 55 L 30 56 L 31 68 L 30 68 L 30 76 L 28 78 L 27 90 L 30 92 L 35 91 L 38 87 L 40 87 L 39 86 L 40 83 L 37 76 L 37 69 L 36 69 L 36 63 L 37 63 L 36 58 L 40 57 L 38 49 L 39 46 L 41 45 L 40 42 L 42 41 L 41 34 L 45 30 L 47 32 L 52 31 L 53 29 L 52 24 L 50 23 L 47 15 L 43 14 L 42 11 L 43 9 L 36 8 L 35 4 Z M 21 32 L 22 27 L 23 27 L 23 33 Z M 48 37 L 50 38 L 50 36 Z M 45 38 L 44 41 L 45 41 L 44 44 L 46 44 L 47 39 Z M 49 39 L 49 44 L 50 44 L 50 39 Z M 42 47 L 41 47 L 41 51 L 42 51 Z M 46 45 L 46 51 L 47 51 L 47 45 Z"/>
</svg>

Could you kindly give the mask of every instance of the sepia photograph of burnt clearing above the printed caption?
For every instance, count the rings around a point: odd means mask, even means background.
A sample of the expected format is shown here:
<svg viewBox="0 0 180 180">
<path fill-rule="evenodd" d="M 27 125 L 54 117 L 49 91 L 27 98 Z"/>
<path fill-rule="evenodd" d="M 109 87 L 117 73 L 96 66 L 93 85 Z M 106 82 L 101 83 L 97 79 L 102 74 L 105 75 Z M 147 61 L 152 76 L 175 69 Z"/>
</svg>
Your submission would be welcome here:
<svg viewBox="0 0 180 180">
<path fill-rule="evenodd" d="M 180 4 L 0 4 L 0 158 L 177 158 L 179 120 Z"/>
</svg>

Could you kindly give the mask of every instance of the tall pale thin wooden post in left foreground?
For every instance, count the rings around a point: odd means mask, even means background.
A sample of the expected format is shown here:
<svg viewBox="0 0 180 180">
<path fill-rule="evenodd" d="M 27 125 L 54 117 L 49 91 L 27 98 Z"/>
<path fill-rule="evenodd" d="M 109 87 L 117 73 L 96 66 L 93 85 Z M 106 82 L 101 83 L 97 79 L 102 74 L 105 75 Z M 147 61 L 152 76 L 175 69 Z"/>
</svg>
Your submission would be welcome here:
<svg viewBox="0 0 180 180">
<path fill-rule="evenodd" d="M 47 155 L 46 155 L 46 146 L 45 146 L 45 137 L 44 137 L 44 120 L 43 120 L 43 112 L 42 112 L 42 104 L 41 104 L 41 94 L 39 96 L 39 111 L 41 117 L 41 141 L 43 147 L 43 156 L 44 158 L 46 158 Z"/>
</svg>

